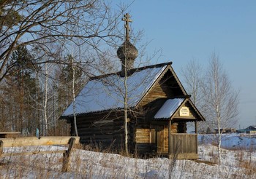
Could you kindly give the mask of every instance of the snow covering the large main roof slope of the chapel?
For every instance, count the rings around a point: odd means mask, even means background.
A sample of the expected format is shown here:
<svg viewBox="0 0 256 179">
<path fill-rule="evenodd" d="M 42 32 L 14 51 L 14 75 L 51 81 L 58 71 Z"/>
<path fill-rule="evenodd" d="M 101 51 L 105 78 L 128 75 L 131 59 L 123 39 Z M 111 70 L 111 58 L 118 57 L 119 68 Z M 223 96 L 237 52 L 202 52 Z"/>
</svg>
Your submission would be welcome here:
<svg viewBox="0 0 256 179">
<path fill-rule="evenodd" d="M 136 106 L 167 65 L 145 68 L 127 76 L 129 108 Z M 90 80 L 75 98 L 75 114 L 124 108 L 124 77 L 118 74 Z M 62 116 L 72 116 L 72 104 Z"/>
</svg>

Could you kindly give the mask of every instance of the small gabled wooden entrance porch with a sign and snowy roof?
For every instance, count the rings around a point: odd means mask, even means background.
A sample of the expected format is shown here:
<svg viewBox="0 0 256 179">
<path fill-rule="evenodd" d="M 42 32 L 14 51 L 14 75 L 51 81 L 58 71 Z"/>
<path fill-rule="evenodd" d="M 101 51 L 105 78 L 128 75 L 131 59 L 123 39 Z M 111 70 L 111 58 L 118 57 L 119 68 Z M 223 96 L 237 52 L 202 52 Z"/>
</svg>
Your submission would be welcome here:
<svg viewBox="0 0 256 179">
<path fill-rule="evenodd" d="M 151 127 L 157 134 L 157 155 L 169 159 L 198 159 L 197 122 L 205 119 L 189 97 L 165 100 L 151 120 Z M 187 133 L 188 122 L 195 124 L 195 134 Z"/>
</svg>

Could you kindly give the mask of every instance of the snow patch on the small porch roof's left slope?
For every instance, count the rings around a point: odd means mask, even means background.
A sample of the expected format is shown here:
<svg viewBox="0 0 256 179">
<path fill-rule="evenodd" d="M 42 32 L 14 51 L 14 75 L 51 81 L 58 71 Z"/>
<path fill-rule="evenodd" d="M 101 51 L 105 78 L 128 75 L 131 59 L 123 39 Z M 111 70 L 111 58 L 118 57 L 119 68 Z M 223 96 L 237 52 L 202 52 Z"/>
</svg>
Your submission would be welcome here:
<svg viewBox="0 0 256 179">
<path fill-rule="evenodd" d="M 166 100 L 163 106 L 157 111 L 157 114 L 154 116 L 154 119 L 167 119 L 173 116 L 175 111 L 181 106 L 181 103 L 184 102 L 184 98 L 175 98 Z"/>
</svg>

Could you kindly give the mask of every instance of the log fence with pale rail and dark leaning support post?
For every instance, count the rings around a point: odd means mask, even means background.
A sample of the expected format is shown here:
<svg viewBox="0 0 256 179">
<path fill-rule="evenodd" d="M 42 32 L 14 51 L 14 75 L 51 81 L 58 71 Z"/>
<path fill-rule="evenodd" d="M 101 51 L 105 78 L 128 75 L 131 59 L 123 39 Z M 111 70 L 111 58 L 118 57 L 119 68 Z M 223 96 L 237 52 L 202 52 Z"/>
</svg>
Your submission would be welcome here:
<svg viewBox="0 0 256 179">
<path fill-rule="evenodd" d="M 72 148 L 79 143 L 79 137 L 71 136 L 50 136 L 50 137 L 26 137 L 26 138 L 0 138 L 0 157 L 14 155 L 33 155 L 33 154 L 63 154 L 62 172 L 69 171 L 70 157 Z M 52 146 L 52 145 L 69 145 L 67 150 L 59 151 L 31 151 L 20 153 L 4 153 L 4 147 L 20 147 L 20 146 Z"/>
</svg>

